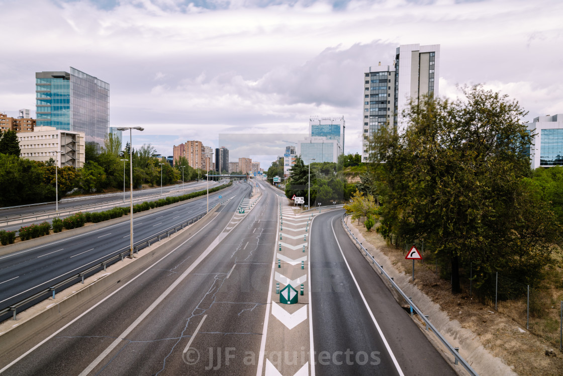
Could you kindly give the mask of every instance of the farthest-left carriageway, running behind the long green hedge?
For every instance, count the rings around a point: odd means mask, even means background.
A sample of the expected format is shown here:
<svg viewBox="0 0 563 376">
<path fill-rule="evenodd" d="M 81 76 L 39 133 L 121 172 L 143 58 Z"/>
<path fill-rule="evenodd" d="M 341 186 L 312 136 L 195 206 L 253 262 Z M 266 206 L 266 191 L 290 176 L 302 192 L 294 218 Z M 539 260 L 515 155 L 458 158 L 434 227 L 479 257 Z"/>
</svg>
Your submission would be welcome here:
<svg viewBox="0 0 563 376">
<path fill-rule="evenodd" d="M 223 182 L 209 182 L 209 188 L 221 185 Z M 163 194 L 160 194 L 160 188 L 133 191 L 133 204 L 144 201 L 158 200 L 166 196 L 179 196 L 182 194 L 205 190 L 207 181 L 186 183 L 184 189 L 182 186 L 169 186 L 163 188 Z M 84 196 L 82 198 L 68 198 L 59 202 L 58 217 L 68 217 L 78 211 L 101 211 L 108 210 L 114 206 L 126 206 L 129 204 L 129 193 L 126 195 L 125 202 L 123 194 L 103 194 L 95 196 Z M 27 226 L 31 223 L 51 222 L 55 214 L 55 203 L 40 205 L 24 205 L 21 207 L 0 209 L 0 230 L 17 231 L 21 226 Z"/>
</svg>

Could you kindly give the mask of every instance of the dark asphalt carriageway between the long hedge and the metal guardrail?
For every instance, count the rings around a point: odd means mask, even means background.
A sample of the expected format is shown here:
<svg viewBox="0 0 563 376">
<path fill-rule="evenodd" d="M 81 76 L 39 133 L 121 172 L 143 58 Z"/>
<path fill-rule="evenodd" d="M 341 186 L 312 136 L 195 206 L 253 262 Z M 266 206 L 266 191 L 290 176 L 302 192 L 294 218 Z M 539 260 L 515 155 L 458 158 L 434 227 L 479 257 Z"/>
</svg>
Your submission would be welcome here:
<svg viewBox="0 0 563 376">
<path fill-rule="evenodd" d="M 209 207 L 240 194 L 243 187 L 246 189 L 249 185 L 235 183 L 233 187 L 210 194 Z M 222 199 L 218 198 L 219 195 L 222 195 Z M 133 240 L 135 244 L 140 244 L 160 231 L 204 213 L 206 208 L 206 196 L 202 196 L 192 202 L 140 217 L 133 221 Z M 0 256 L 0 308 L 9 307 L 113 254 L 129 249 L 129 233 L 129 221 L 124 221 Z"/>
</svg>

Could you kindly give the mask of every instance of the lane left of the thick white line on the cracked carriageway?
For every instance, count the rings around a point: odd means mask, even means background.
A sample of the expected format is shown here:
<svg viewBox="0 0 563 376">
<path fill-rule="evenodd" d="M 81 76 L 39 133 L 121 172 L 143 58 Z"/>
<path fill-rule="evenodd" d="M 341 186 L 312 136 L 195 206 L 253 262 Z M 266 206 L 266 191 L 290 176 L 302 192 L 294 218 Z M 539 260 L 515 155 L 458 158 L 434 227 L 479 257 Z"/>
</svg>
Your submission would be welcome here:
<svg viewBox="0 0 563 376">
<path fill-rule="evenodd" d="M 237 205 L 238 203 L 232 200 L 223 209 L 226 212 L 233 213 Z M 107 301 L 95 307 L 91 312 L 88 312 L 86 316 L 68 326 L 55 338 L 17 362 L 7 371 L 7 374 L 80 373 L 109 343 L 113 342 L 117 335 L 132 323 L 135 317 L 142 314 L 177 279 L 178 275 L 190 267 L 191 263 L 220 234 L 230 220 L 231 215 L 218 215 L 201 231 L 194 234 L 189 241 L 150 269 L 148 266 L 152 265 L 152 261 L 144 261 L 147 263 L 146 267 L 141 268 L 141 270 L 146 270 L 144 274 L 137 277 L 133 283 L 119 290 Z M 179 236 L 170 241 L 176 246 L 184 242 L 185 239 Z M 159 257 L 162 257 L 163 254 L 166 253 L 162 252 Z M 119 288 L 132 278 L 133 276 L 124 277 L 111 290 Z M 110 289 L 103 296 L 109 294 Z M 48 337 L 52 332 L 68 323 L 70 319 L 78 316 L 82 310 L 94 304 L 94 299 L 85 303 L 83 307 L 77 308 L 73 314 L 69 314 L 68 319 L 65 317 L 50 328 L 44 329 L 42 333 L 38 333 L 35 338 L 30 339 L 21 346 L 23 350 L 20 348 L 14 349 L 11 358 L 8 357 L 10 354 L 7 354 L 3 359 L 15 359 L 34 345 L 34 343 L 30 344 L 29 342 L 39 342 L 41 339 Z"/>
</svg>

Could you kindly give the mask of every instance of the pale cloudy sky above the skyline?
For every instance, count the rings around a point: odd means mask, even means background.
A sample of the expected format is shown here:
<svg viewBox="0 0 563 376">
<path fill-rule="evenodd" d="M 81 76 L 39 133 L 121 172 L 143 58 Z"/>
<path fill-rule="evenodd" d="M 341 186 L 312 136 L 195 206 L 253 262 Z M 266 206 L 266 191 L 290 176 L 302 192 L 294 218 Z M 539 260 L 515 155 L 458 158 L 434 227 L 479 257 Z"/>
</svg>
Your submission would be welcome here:
<svg viewBox="0 0 563 376">
<path fill-rule="evenodd" d="M 364 69 L 400 44 L 441 45 L 442 96 L 485 83 L 525 120 L 563 113 L 561 0 L 0 0 L 0 14 L 1 112 L 34 114 L 35 72 L 73 66 L 110 83 L 112 126 L 144 127 L 133 146 L 163 155 L 200 140 L 267 168 L 311 115 L 344 115 L 359 152 Z"/>
</svg>

